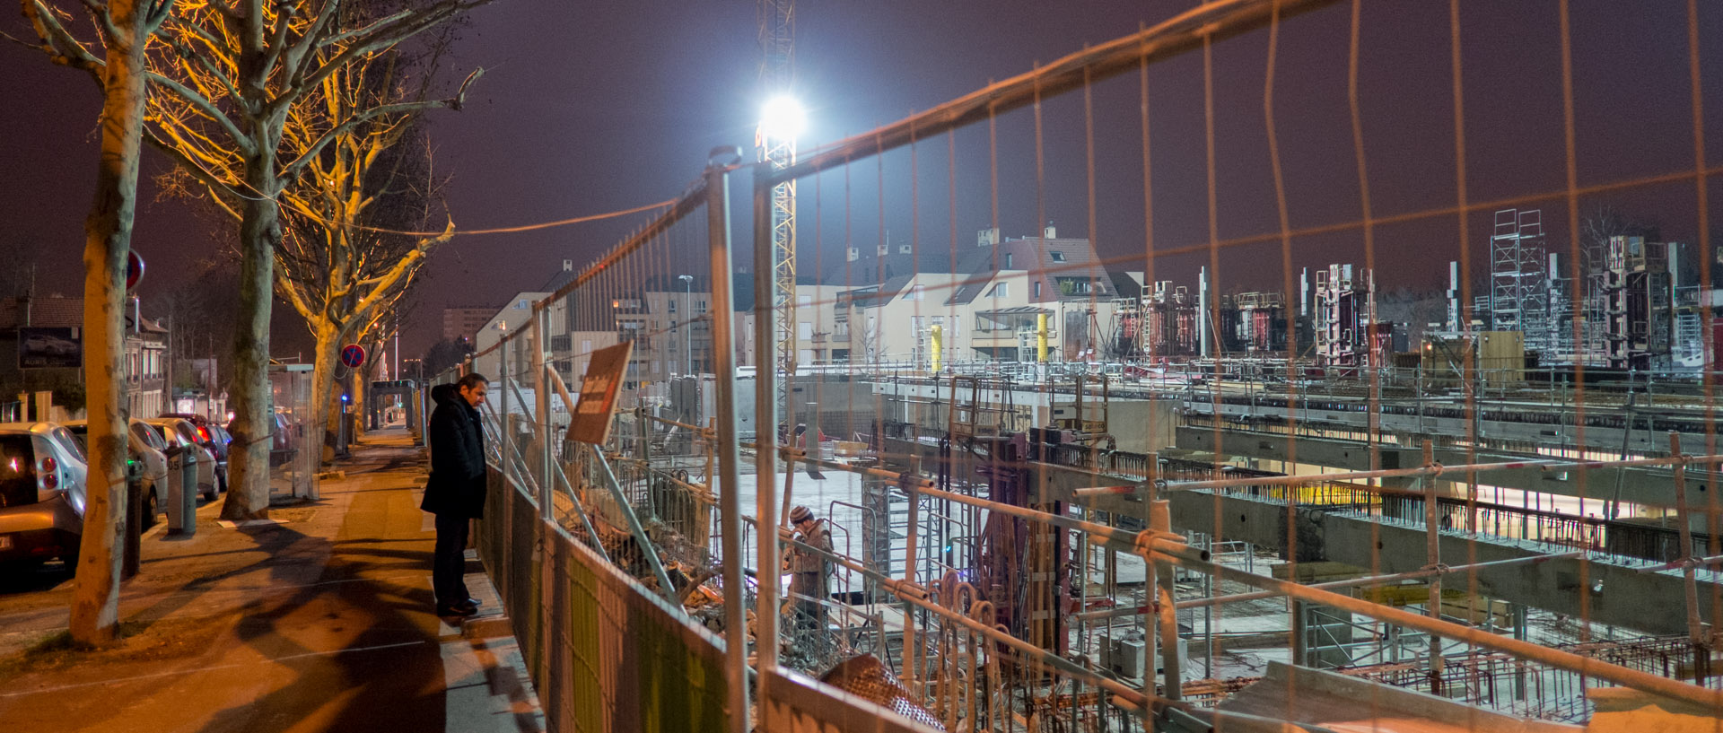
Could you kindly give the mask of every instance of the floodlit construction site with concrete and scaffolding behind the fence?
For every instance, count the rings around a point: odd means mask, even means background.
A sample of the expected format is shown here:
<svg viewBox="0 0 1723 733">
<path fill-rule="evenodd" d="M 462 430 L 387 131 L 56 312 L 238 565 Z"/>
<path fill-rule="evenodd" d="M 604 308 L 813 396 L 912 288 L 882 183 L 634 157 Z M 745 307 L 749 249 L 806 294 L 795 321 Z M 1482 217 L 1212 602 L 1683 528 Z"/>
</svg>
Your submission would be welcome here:
<svg viewBox="0 0 1723 733">
<path fill-rule="evenodd" d="M 1130 256 L 1098 246 L 1089 96 L 1137 103 L 1135 81 L 1099 79 L 1278 31 L 1280 7 L 1203 5 L 799 155 L 762 127 L 756 162 L 715 150 L 439 377 L 491 379 L 479 547 L 548 719 L 608 728 L 639 690 L 677 688 L 737 731 L 1713 730 L 1723 332 L 1704 225 L 1582 236 L 1573 179 L 1542 208 L 1463 201 L 1427 213 L 1459 237 L 1416 306 L 1416 277 L 1370 267 L 1396 253 L 1368 196 L 1335 227 L 1361 237 L 1344 262 L 1297 251 L 1285 219 L 1237 241 L 1211 225 L 1180 249 L 1208 258 L 1189 282 L 1156 279 L 1153 234 Z M 1358 43 L 1356 14 L 1313 15 Z M 1044 93 L 1082 98 L 1061 110 L 1091 143 L 1084 236 L 1044 210 Z M 913 146 L 991 145 L 1011 119 L 1032 148 Z M 1001 157 L 1036 179 L 1001 179 Z M 973 244 L 948 167 L 992 176 Z M 877 210 L 849 198 L 851 169 L 877 177 Z M 741 172 L 751 217 L 729 198 Z M 946 189 L 948 231 L 894 239 L 946 203 L 891 208 L 887 181 Z M 1030 236 L 999 225 L 1013 184 Z M 846 256 L 810 263 L 839 248 L 806 239 L 834 231 Z M 1222 253 L 1284 286 L 1222 280 Z"/>
</svg>

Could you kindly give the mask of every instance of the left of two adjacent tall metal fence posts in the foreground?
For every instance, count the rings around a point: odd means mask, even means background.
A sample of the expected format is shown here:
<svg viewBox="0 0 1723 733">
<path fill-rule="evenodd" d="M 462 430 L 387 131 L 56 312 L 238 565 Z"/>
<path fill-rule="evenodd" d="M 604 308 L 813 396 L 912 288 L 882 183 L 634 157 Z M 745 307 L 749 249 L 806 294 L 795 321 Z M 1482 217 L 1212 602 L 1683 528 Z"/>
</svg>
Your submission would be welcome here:
<svg viewBox="0 0 1723 733">
<path fill-rule="evenodd" d="M 710 158 L 706 165 L 706 237 L 712 256 L 712 385 L 717 391 L 712 449 L 718 459 L 718 521 L 724 532 L 724 654 L 729 661 L 725 664 L 729 673 L 729 731 L 748 733 L 751 728 L 748 724 L 748 609 L 743 607 L 741 440 L 736 437 L 736 344 L 731 334 L 734 320 L 727 318 L 727 313 L 736 308 L 736 294 L 731 287 L 731 198 L 725 189 L 729 165 L 741 160 L 741 148 L 713 148 Z M 722 158 L 731 160 L 720 163 Z"/>
</svg>

